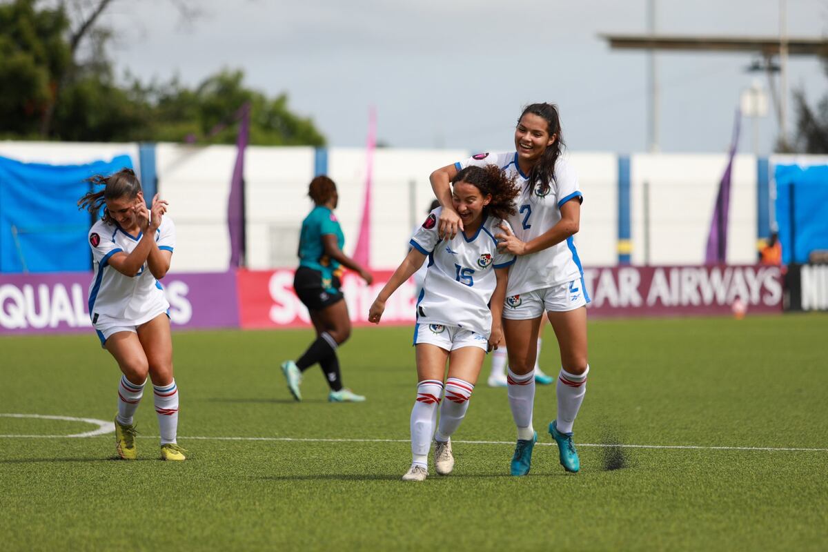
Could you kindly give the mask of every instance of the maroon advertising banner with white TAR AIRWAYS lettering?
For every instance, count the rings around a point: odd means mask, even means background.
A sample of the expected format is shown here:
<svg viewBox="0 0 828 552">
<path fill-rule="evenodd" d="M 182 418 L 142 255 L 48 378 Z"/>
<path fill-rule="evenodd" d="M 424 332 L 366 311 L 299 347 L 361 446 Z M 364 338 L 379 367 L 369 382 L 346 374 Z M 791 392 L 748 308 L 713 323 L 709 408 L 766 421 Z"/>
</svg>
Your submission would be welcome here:
<svg viewBox="0 0 828 552">
<path fill-rule="evenodd" d="M 680 316 L 782 312 L 778 266 L 586 268 L 590 316 Z"/>
</svg>

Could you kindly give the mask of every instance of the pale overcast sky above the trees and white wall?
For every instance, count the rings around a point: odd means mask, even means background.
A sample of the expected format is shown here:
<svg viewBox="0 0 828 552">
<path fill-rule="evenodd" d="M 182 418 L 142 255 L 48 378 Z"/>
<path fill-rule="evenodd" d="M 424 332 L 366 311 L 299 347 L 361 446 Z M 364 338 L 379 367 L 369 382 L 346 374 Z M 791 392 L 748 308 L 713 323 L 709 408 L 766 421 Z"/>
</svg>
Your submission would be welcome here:
<svg viewBox="0 0 828 552">
<path fill-rule="evenodd" d="M 118 71 L 200 83 L 221 68 L 269 96 L 286 92 L 330 146 L 363 146 L 368 109 L 396 147 L 513 147 L 526 103 L 561 108 L 570 150 L 647 150 L 647 57 L 610 50 L 601 32 L 646 31 L 647 0 L 192 0 L 190 25 L 168 0 L 114 2 Z M 509 7 L 508 7 L 509 6 Z M 657 0 L 657 32 L 778 36 L 779 0 Z M 789 36 L 828 31 L 828 0 L 787 0 Z M 749 54 L 662 53 L 662 151 L 724 151 Z M 828 93 L 821 64 L 792 56 L 791 88 Z M 794 116 L 789 112 L 789 127 Z M 758 120 L 758 151 L 777 137 Z M 753 151 L 749 120 L 739 151 Z"/>
</svg>

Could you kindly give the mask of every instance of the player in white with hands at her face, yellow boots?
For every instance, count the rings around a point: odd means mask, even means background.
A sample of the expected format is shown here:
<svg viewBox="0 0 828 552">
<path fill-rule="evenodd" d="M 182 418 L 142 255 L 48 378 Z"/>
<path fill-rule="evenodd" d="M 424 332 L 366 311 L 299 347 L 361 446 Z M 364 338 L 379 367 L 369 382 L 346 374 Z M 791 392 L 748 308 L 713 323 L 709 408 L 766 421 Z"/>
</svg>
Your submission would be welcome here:
<svg viewBox="0 0 828 552">
<path fill-rule="evenodd" d="M 115 415 L 118 456 L 137 458 L 132 417 L 149 375 L 161 428 L 161 459 L 184 460 L 186 451 L 176 444 L 178 387 L 172 373 L 170 304 L 158 282 L 170 269 L 176 227 L 165 216 L 167 202 L 158 194 L 147 209 L 132 169 L 89 181 L 104 186 L 85 194 L 78 205 L 93 214 L 104 208 L 103 218 L 89 230 L 94 261 L 89 316 L 101 346 L 122 372 Z"/>
</svg>

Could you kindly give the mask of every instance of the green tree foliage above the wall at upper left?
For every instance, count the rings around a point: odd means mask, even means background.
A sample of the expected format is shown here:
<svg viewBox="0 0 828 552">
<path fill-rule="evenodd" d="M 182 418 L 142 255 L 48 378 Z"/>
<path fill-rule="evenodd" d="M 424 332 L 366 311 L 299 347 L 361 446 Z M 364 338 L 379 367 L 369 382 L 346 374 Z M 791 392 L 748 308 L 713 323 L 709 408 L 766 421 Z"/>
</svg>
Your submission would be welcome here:
<svg viewBox="0 0 828 552">
<path fill-rule="evenodd" d="M 80 62 L 72 47 L 79 34 L 70 30 L 65 4 L 37 4 L 0 3 L 0 137 L 233 143 L 235 115 L 250 103 L 251 144 L 325 144 L 310 118 L 291 112 L 286 94 L 268 98 L 248 89 L 241 70 L 220 70 L 195 89 L 178 79 L 143 84 L 130 74 L 118 82 L 105 52 L 105 31 L 84 31 L 94 48 Z"/>
</svg>

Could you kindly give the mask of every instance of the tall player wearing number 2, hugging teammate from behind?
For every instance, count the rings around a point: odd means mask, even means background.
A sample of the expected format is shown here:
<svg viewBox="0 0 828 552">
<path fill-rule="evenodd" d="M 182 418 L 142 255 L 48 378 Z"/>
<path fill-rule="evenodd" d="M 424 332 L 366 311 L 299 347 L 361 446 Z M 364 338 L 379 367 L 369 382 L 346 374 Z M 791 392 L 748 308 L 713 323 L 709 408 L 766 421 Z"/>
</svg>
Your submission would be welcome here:
<svg viewBox="0 0 828 552">
<path fill-rule="evenodd" d="M 440 199 L 440 235 L 462 232 L 465 220 L 452 206 L 449 182 L 468 166 L 498 166 L 521 185 L 511 228 L 495 235 L 498 247 L 517 255 L 509 272 L 503 334 L 508 348 L 508 398 L 517 425 L 517 446 L 510 471 L 529 473 L 537 432 L 532 428 L 537 334 L 544 312 L 561 351 L 556 394 L 557 417 L 549 433 L 558 445 L 561 465 L 577 472 L 580 461 L 572 443 L 572 425 L 586 392 L 586 304 L 583 271 L 572 236 L 580 225 L 578 177 L 561 157 L 564 146 L 558 110 L 551 103 L 533 103 L 523 110 L 515 127 L 516 151 L 482 153 L 445 166 L 431 174 Z"/>
</svg>

